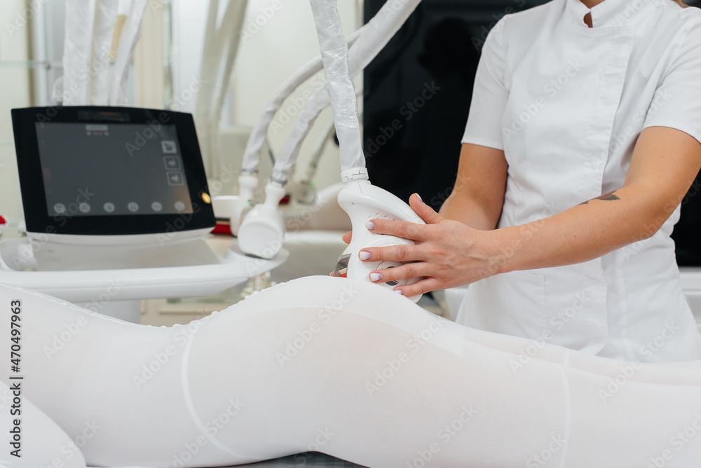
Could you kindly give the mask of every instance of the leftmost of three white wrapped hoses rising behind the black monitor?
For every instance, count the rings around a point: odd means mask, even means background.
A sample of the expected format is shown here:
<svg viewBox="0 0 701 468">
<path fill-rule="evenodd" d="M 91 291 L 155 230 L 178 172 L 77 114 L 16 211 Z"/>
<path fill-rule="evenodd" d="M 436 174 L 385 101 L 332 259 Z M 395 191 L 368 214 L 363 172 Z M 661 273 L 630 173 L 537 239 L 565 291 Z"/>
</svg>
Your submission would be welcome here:
<svg viewBox="0 0 701 468">
<path fill-rule="evenodd" d="M 90 50 L 89 0 L 66 0 L 65 27 L 62 102 L 64 106 L 83 106 L 88 90 L 84 72 Z"/>
</svg>

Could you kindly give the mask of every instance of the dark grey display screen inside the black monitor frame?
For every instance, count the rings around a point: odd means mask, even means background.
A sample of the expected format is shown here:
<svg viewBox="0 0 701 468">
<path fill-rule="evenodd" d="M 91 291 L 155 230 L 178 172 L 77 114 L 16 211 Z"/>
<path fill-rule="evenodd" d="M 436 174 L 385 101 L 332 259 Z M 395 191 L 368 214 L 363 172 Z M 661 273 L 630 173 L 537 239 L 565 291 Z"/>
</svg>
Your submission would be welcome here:
<svg viewBox="0 0 701 468">
<path fill-rule="evenodd" d="M 35 126 L 49 216 L 192 212 L 175 125 Z"/>
</svg>

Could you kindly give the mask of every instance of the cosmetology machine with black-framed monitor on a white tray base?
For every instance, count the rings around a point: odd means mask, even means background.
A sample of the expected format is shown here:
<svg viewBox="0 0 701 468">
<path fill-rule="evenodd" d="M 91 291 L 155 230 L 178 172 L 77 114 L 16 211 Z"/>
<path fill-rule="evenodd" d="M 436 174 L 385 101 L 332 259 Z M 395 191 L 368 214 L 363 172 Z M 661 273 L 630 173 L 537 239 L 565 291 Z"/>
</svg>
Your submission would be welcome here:
<svg viewBox="0 0 701 468">
<path fill-rule="evenodd" d="M 144 298 L 218 294 L 285 260 L 215 252 L 192 116 L 126 107 L 13 109 L 27 238 L 0 282 L 139 321 Z"/>
</svg>

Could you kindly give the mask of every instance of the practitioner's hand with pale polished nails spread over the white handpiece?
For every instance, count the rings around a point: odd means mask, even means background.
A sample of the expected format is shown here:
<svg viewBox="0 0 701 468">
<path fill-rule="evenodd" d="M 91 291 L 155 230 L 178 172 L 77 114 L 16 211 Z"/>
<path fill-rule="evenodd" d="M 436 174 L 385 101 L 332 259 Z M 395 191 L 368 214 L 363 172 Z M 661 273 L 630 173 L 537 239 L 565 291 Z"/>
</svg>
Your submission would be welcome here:
<svg viewBox="0 0 701 468">
<path fill-rule="evenodd" d="M 499 252 L 496 231 L 477 230 L 459 221 L 444 219 L 416 194 L 411 195 L 409 205 L 426 221 L 426 226 L 405 221 L 374 219 L 371 221 L 374 223 L 372 232 L 414 240 L 416 245 L 367 248 L 362 249 L 359 255 L 363 261 L 415 263 L 374 270 L 370 274 L 372 282 L 384 283 L 423 277 L 414 284 L 395 288 L 395 291 L 402 291 L 404 296 L 410 297 L 436 289 L 470 284 L 500 273 L 497 263 L 494 262 Z M 350 240 L 350 235 L 346 236 Z M 343 240 L 346 240 L 346 236 Z M 369 258 L 363 259 L 363 252 L 369 252 Z M 378 277 L 378 274 L 381 277 Z"/>
</svg>

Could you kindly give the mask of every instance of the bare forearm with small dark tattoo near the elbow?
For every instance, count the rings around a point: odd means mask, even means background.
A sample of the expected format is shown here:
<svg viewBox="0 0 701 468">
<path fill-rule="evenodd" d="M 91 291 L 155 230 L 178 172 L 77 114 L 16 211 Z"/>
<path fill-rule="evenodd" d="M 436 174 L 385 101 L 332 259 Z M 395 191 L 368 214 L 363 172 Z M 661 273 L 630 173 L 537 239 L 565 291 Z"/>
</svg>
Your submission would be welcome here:
<svg viewBox="0 0 701 468">
<path fill-rule="evenodd" d="M 650 238 L 681 201 L 655 199 L 642 184 L 620 188 L 613 195 L 494 231 L 495 242 L 489 247 L 496 263 L 494 270 L 505 273 L 596 259 Z"/>
</svg>

